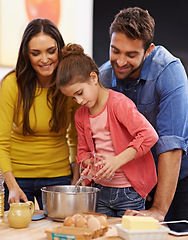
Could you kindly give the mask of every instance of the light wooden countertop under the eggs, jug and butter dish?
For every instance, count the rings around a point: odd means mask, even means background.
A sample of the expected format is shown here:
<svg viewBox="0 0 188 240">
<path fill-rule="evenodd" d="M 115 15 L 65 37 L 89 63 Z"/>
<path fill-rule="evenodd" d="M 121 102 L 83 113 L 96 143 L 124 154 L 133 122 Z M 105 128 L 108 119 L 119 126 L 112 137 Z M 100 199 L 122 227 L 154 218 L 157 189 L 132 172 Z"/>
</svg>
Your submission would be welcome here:
<svg viewBox="0 0 188 240">
<path fill-rule="evenodd" d="M 41 213 L 41 211 L 36 211 Z M 115 224 L 120 223 L 120 218 L 108 218 L 109 230 L 105 236 L 96 238 L 95 240 L 122 240 L 118 237 Z M 55 222 L 50 218 L 39 221 L 31 221 L 28 228 L 14 229 L 10 228 L 7 222 L 7 213 L 5 213 L 4 222 L 0 223 L 0 239 L 1 240 L 48 240 L 45 233 L 53 227 L 61 226 L 61 222 Z M 168 234 L 166 240 L 188 240 L 188 236 L 175 237 Z"/>
</svg>

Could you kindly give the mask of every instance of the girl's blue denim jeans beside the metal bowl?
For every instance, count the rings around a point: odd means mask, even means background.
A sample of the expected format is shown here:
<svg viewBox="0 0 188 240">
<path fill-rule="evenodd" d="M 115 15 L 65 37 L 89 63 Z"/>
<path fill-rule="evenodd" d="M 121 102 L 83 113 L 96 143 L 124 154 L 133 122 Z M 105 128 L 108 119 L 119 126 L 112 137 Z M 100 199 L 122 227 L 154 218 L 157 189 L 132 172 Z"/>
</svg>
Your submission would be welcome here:
<svg viewBox="0 0 188 240">
<path fill-rule="evenodd" d="M 106 214 L 108 217 L 122 217 L 127 209 L 143 210 L 145 199 L 132 187 L 112 188 L 100 184 L 93 184 L 100 189 L 97 201 L 97 213 Z"/>
</svg>

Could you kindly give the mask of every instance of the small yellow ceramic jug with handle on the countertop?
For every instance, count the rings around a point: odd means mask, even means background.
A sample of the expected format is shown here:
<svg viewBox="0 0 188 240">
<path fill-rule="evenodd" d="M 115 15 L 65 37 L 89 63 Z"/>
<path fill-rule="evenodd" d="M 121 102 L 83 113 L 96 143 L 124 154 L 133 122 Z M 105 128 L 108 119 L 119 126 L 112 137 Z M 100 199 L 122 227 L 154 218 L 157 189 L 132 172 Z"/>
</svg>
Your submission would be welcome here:
<svg viewBox="0 0 188 240">
<path fill-rule="evenodd" d="M 34 212 L 34 203 L 11 203 L 8 211 L 8 223 L 13 228 L 27 228 Z"/>
</svg>

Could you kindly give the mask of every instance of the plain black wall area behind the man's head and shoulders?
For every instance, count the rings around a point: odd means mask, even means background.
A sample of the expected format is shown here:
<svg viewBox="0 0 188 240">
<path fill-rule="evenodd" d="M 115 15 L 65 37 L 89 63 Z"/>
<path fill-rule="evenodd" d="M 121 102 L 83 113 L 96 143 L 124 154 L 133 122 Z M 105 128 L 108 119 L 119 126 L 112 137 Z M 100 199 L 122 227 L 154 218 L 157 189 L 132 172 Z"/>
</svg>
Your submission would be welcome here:
<svg viewBox="0 0 188 240">
<path fill-rule="evenodd" d="M 94 0 L 93 58 L 98 66 L 109 59 L 109 27 L 119 10 L 147 9 L 155 20 L 154 44 L 180 58 L 188 73 L 187 0 Z"/>
</svg>

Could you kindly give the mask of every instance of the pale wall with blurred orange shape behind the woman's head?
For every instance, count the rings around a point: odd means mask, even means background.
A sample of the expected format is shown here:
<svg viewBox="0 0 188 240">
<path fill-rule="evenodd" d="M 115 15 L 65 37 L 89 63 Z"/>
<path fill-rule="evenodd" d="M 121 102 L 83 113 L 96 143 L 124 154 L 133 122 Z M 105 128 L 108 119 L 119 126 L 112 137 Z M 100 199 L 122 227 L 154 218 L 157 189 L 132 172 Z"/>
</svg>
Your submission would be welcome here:
<svg viewBox="0 0 188 240">
<path fill-rule="evenodd" d="M 37 17 L 52 20 L 66 44 L 79 43 L 92 57 L 93 0 L 0 0 L 0 79 L 15 67 L 25 27 Z"/>
</svg>

